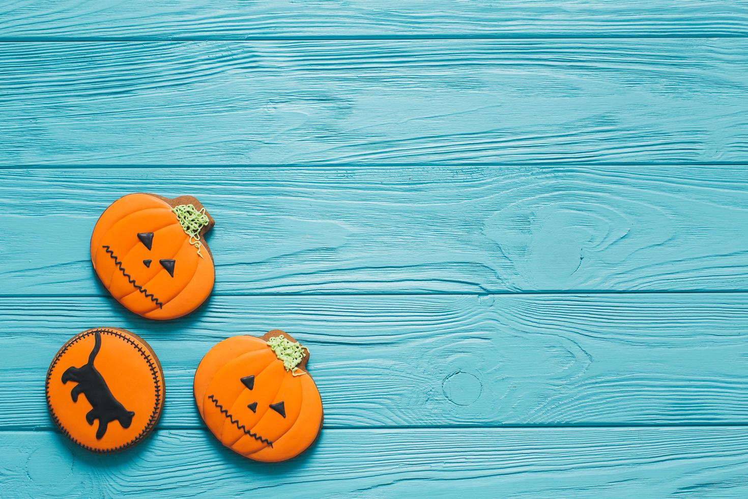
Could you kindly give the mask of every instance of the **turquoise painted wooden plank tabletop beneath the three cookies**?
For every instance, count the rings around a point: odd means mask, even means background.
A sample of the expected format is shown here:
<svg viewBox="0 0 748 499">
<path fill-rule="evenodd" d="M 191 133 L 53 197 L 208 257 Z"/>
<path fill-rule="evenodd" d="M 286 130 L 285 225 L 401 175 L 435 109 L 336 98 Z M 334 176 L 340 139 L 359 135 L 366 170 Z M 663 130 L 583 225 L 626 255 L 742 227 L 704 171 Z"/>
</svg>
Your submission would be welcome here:
<svg viewBox="0 0 748 499">
<path fill-rule="evenodd" d="M 0 139 L 4 498 L 748 496 L 745 0 L 11 0 Z M 191 316 L 97 283 L 129 192 L 215 217 Z M 104 456 L 43 394 L 97 325 L 167 385 Z M 266 465 L 191 382 L 272 328 L 325 425 Z"/>
</svg>

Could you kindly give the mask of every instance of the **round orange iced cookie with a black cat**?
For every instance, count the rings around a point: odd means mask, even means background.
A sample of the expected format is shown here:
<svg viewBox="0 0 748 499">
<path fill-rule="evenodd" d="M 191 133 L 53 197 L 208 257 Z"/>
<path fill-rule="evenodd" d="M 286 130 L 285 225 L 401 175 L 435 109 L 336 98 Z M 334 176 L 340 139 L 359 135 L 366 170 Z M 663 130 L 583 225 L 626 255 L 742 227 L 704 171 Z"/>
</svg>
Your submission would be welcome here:
<svg viewBox="0 0 748 499">
<path fill-rule="evenodd" d="M 111 452 L 135 444 L 156 425 L 164 405 L 164 373 L 148 343 L 135 334 L 89 329 L 52 359 L 46 398 L 52 420 L 71 440 Z"/>
</svg>

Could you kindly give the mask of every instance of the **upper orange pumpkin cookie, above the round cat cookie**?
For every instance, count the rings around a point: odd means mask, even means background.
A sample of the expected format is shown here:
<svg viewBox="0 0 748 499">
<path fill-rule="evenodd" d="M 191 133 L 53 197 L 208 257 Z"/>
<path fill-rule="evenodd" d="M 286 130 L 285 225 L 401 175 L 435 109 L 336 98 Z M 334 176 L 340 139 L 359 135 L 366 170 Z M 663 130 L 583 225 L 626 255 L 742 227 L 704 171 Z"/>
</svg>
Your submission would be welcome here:
<svg viewBox="0 0 748 499">
<path fill-rule="evenodd" d="M 93 227 L 93 269 L 111 296 L 140 316 L 186 315 L 213 289 L 213 257 L 201 236 L 214 223 L 191 196 L 126 195 Z"/>
</svg>

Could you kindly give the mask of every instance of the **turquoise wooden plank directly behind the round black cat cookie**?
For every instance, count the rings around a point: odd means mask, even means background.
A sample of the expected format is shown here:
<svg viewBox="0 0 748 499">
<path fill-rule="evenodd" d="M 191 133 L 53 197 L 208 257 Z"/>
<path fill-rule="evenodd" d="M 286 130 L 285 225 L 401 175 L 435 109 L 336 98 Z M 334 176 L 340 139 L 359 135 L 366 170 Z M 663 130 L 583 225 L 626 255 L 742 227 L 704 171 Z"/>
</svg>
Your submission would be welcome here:
<svg viewBox="0 0 748 499">
<path fill-rule="evenodd" d="M 202 427 L 192 379 L 212 345 L 273 328 L 310 349 L 328 428 L 745 424 L 746 324 L 745 293 L 214 296 L 170 322 L 111 299 L 5 298 L 0 426 L 52 427 L 49 362 L 97 325 L 153 346 L 167 428 Z"/>
</svg>

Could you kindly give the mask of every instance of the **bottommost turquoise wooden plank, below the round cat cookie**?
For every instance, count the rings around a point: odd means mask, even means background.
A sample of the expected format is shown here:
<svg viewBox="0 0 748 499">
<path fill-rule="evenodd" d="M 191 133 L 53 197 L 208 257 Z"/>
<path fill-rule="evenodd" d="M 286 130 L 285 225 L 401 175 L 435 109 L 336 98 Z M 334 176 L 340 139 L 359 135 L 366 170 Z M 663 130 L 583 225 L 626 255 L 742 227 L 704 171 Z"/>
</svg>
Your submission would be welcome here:
<svg viewBox="0 0 748 499">
<path fill-rule="evenodd" d="M 52 432 L 2 432 L 18 497 L 744 498 L 748 429 L 323 430 L 290 462 L 250 462 L 200 430 L 93 456 Z"/>
</svg>

